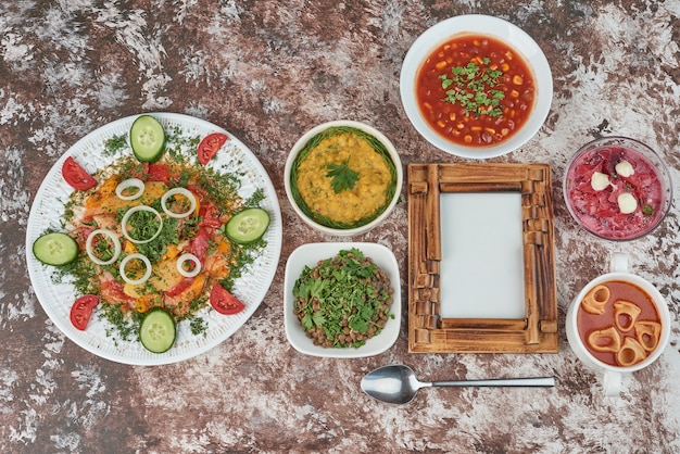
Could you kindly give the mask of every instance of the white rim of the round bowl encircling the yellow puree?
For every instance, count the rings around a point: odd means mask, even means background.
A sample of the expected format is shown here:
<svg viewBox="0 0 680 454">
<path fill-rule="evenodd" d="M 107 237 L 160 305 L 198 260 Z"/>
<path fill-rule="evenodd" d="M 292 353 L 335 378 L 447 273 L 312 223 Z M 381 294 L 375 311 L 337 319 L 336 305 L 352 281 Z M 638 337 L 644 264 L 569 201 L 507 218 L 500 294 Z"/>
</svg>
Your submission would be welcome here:
<svg viewBox="0 0 680 454">
<path fill-rule="evenodd" d="M 307 144 L 310 139 L 312 139 L 314 136 L 316 136 L 317 134 L 330 127 L 338 127 L 338 126 L 341 126 L 341 127 L 347 126 L 347 127 L 361 129 L 364 133 L 367 133 L 370 136 L 378 139 L 389 152 L 389 155 L 392 160 L 392 163 L 394 164 L 394 168 L 396 172 L 396 187 L 394 189 L 394 196 L 392 197 L 392 200 L 390 201 L 386 210 L 372 222 L 365 225 L 358 226 L 358 227 L 347 228 L 347 229 L 328 227 L 328 226 L 317 223 L 316 220 L 307 216 L 295 202 L 291 193 L 291 185 L 290 185 L 290 174 L 291 174 L 292 165 L 295 161 L 295 157 L 298 156 L 298 153 Z M 295 213 L 298 213 L 298 216 L 300 216 L 302 220 L 304 220 L 307 225 L 314 227 L 315 229 L 319 231 L 323 231 L 324 234 L 342 236 L 342 237 L 350 237 L 354 235 L 365 234 L 366 231 L 379 225 L 394 209 L 394 205 L 396 204 L 396 201 L 399 200 L 399 197 L 401 193 L 402 181 L 403 181 L 403 171 L 402 171 L 402 165 L 401 165 L 401 159 L 399 157 L 399 153 L 396 153 L 396 150 L 394 149 L 394 146 L 392 144 L 392 142 L 390 142 L 390 140 L 387 137 L 385 137 L 382 133 L 380 133 L 379 130 L 377 130 L 376 128 L 372 126 L 368 126 L 360 122 L 352 122 L 352 121 L 344 121 L 344 119 L 324 123 L 306 131 L 293 146 L 292 150 L 290 151 L 288 155 L 288 160 L 286 161 L 286 167 L 284 169 L 284 185 L 286 187 L 286 194 L 288 196 L 288 200 L 290 204 L 292 205 L 293 210 L 295 211 Z"/>
</svg>

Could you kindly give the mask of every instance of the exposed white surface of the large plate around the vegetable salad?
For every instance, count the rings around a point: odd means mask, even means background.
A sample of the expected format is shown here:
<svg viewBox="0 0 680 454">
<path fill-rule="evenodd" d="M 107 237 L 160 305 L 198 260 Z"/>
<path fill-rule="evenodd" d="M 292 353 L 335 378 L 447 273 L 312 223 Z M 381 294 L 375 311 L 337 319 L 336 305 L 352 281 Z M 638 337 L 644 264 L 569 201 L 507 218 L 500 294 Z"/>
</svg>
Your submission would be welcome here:
<svg viewBox="0 0 680 454">
<path fill-rule="evenodd" d="M 198 315 L 206 323 L 205 336 L 192 335 L 189 323 L 182 321 L 177 325 L 177 340 L 173 348 L 162 354 L 151 353 L 137 339 L 122 341 L 117 336 L 115 339 L 108 336 L 108 330 L 115 332 L 114 327 L 109 321 L 99 319 L 96 313 L 92 314 L 85 331 L 74 328 L 70 313 L 76 298 L 75 288 L 67 281 L 54 282 L 52 278 L 54 268 L 38 262 L 32 251 L 34 241 L 48 228 L 62 228 L 60 219 L 64 214 L 64 203 L 73 191 L 61 175 L 66 157 L 73 156 L 90 174 L 110 164 L 123 152 L 106 155 L 104 142 L 113 136 L 127 137 L 138 115 L 121 118 L 96 129 L 78 140 L 56 161 L 40 185 L 28 217 L 26 262 L 30 282 L 47 315 L 72 341 L 103 358 L 133 365 L 176 363 L 199 355 L 229 338 L 251 317 L 268 291 L 282 243 L 281 212 L 274 185 L 257 157 L 240 140 L 212 123 L 188 115 L 174 113 L 152 113 L 152 115 L 161 121 L 166 130 L 179 128 L 186 137 L 203 138 L 210 133 L 225 133 L 229 140 L 209 165 L 217 172 L 239 172 L 241 174 L 239 194 L 242 198 L 248 198 L 256 189 L 262 188 L 265 196 L 262 207 L 269 212 L 272 219 L 264 237 L 267 247 L 235 282 L 234 293 L 245 304 L 245 310 L 236 315 L 223 316 L 212 308 L 204 307 Z M 124 152 L 131 153 L 129 149 Z"/>
</svg>

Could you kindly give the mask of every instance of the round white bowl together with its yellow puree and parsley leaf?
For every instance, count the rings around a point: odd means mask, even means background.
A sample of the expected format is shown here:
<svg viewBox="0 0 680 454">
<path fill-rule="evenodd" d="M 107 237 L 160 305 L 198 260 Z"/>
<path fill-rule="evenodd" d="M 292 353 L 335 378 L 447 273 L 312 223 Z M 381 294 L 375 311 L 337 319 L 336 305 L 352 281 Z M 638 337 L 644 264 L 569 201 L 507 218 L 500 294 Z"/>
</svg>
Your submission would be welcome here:
<svg viewBox="0 0 680 454">
<path fill-rule="evenodd" d="M 307 131 L 285 169 L 298 215 L 326 234 L 352 236 L 374 228 L 394 207 L 403 180 L 392 143 L 375 128 L 349 121 Z"/>
</svg>

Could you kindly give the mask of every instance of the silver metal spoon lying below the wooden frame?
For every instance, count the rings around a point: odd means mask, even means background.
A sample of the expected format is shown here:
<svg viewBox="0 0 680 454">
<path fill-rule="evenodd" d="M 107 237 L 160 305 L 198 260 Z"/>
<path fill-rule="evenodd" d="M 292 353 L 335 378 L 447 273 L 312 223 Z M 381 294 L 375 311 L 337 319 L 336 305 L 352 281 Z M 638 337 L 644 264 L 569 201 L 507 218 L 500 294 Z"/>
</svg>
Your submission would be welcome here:
<svg viewBox="0 0 680 454">
<path fill-rule="evenodd" d="M 406 404 L 420 388 L 431 387 L 554 387 L 554 377 L 494 378 L 490 380 L 418 381 L 408 366 L 392 364 L 369 371 L 362 379 L 362 390 L 388 404 Z"/>
</svg>

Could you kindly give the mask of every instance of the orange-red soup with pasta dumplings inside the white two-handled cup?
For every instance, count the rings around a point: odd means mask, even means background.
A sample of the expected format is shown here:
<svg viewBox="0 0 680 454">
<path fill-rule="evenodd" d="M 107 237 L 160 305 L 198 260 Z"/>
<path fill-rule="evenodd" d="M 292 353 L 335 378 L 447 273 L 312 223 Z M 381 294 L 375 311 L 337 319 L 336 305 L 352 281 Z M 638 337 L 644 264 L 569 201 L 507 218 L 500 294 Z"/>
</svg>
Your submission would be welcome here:
<svg viewBox="0 0 680 454">
<path fill-rule="evenodd" d="M 637 364 L 658 348 L 660 317 L 656 306 L 652 297 L 633 283 L 610 280 L 602 285 L 609 294 L 601 314 L 587 312 L 584 301 L 579 305 L 576 325 L 581 341 L 603 363 L 612 366 Z M 626 308 L 631 304 L 634 306 L 632 311 Z M 640 355 L 635 358 L 626 349 L 638 349 Z M 621 364 L 622 361 L 632 364 Z"/>
</svg>

